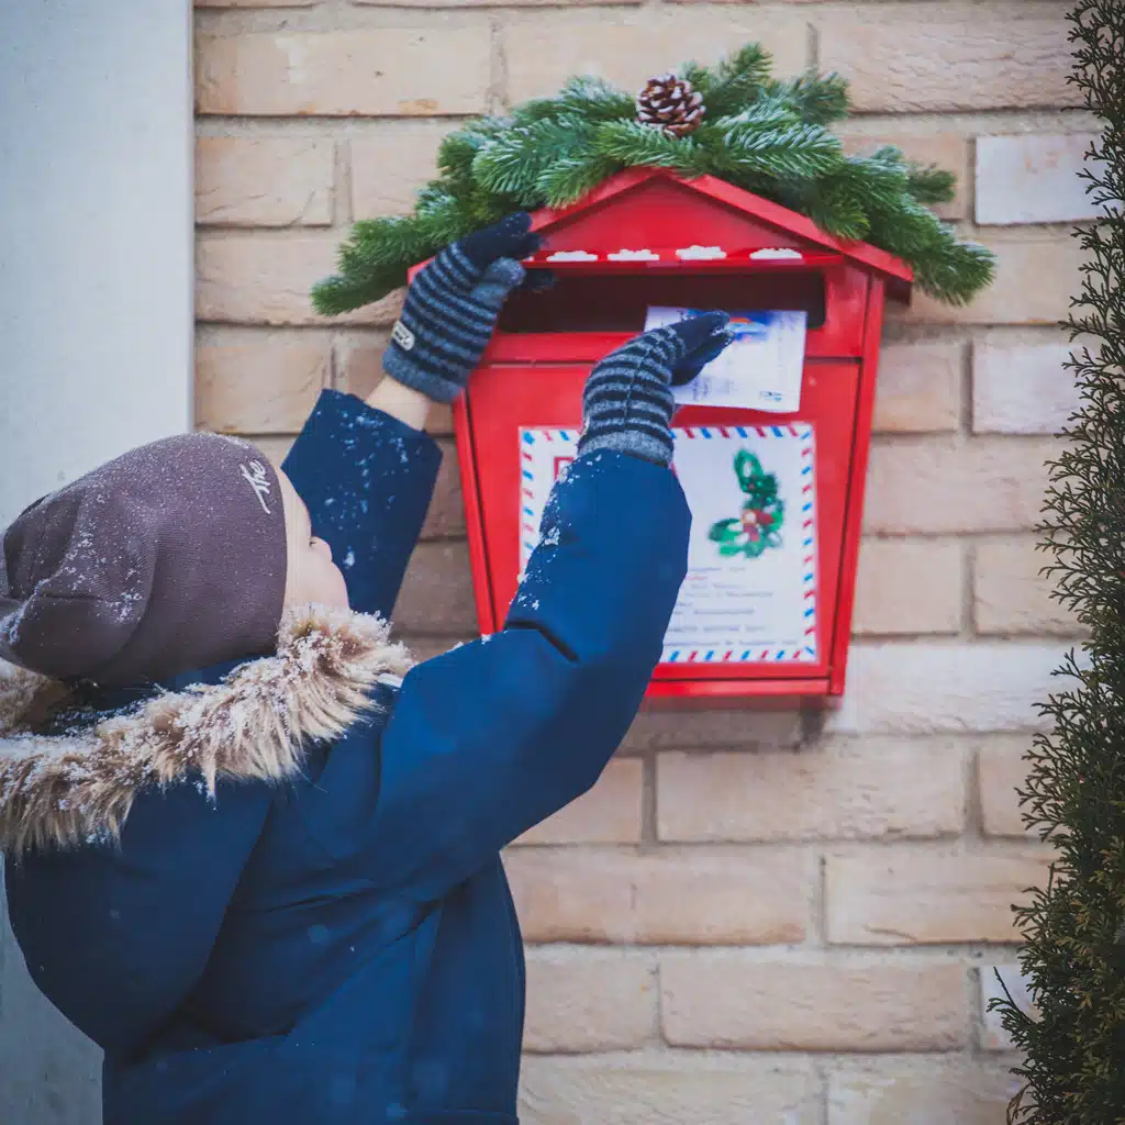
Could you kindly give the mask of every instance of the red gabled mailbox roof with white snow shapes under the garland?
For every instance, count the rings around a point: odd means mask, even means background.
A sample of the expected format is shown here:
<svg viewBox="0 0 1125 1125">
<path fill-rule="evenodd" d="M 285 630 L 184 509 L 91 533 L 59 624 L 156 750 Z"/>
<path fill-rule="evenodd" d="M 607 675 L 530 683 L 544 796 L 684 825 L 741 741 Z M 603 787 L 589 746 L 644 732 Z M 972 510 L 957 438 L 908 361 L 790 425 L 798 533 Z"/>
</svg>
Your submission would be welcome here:
<svg viewBox="0 0 1125 1125">
<path fill-rule="evenodd" d="M 724 180 L 687 180 L 663 169 L 631 169 L 606 180 L 579 202 L 540 210 L 534 230 L 548 245 L 529 261 L 558 266 L 604 262 L 705 261 L 730 266 L 749 259 L 806 264 L 845 260 L 878 273 L 890 291 L 909 299 L 914 272 L 901 259 L 866 242 L 844 242 L 812 219 Z"/>
</svg>

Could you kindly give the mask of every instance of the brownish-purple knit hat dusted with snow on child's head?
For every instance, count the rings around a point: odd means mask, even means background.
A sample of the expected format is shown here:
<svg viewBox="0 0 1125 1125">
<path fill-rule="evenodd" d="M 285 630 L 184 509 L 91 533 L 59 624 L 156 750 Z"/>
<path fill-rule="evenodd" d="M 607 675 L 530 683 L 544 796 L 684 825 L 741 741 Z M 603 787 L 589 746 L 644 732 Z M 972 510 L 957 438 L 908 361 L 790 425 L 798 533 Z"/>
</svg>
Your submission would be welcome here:
<svg viewBox="0 0 1125 1125">
<path fill-rule="evenodd" d="M 130 450 L 19 515 L 0 550 L 0 657 L 60 680 L 154 682 L 273 647 L 277 474 L 195 433 Z"/>
</svg>

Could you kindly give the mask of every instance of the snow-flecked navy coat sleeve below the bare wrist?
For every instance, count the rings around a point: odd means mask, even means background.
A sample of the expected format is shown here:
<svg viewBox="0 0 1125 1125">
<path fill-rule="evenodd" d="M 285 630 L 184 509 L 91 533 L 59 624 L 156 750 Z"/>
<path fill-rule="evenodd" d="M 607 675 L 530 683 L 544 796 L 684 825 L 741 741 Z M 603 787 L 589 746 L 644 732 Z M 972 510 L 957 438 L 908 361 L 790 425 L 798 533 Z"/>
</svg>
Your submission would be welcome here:
<svg viewBox="0 0 1125 1125">
<path fill-rule="evenodd" d="M 321 393 L 281 468 L 332 548 L 353 610 L 390 616 L 440 465 L 429 434 L 354 395 Z"/>
</svg>

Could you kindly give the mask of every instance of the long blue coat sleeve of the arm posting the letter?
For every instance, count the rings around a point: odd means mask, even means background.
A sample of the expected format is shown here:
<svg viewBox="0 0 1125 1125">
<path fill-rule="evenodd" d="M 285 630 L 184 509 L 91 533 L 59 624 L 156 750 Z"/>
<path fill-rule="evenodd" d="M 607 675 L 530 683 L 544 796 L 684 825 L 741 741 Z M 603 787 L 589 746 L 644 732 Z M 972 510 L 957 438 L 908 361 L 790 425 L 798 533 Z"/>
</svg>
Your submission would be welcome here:
<svg viewBox="0 0 1125 1125">
<path fill-rule="evenodd" d="M 690 522 L 667 469 L 573 464 L 504 630 L 403 684 L 367 849 L 380 883 L 439 898 L 594 784 L 660 658 Z"/>
</svg>

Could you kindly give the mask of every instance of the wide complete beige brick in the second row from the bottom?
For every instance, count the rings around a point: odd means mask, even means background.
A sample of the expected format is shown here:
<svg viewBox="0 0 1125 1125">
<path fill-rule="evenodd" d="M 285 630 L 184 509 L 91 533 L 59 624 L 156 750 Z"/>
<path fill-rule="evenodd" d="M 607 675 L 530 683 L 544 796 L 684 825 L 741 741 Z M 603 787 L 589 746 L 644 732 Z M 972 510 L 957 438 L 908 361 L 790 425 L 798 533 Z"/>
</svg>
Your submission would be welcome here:
<svg viewBox="0 0 1125 1125">
<path fill-rule="evenodd" d="M 685 1047 L 951 1051 L 969 1033 L 964 970 L 950 962 L 667 953 L 660 1011 Z"/>
</svg>

